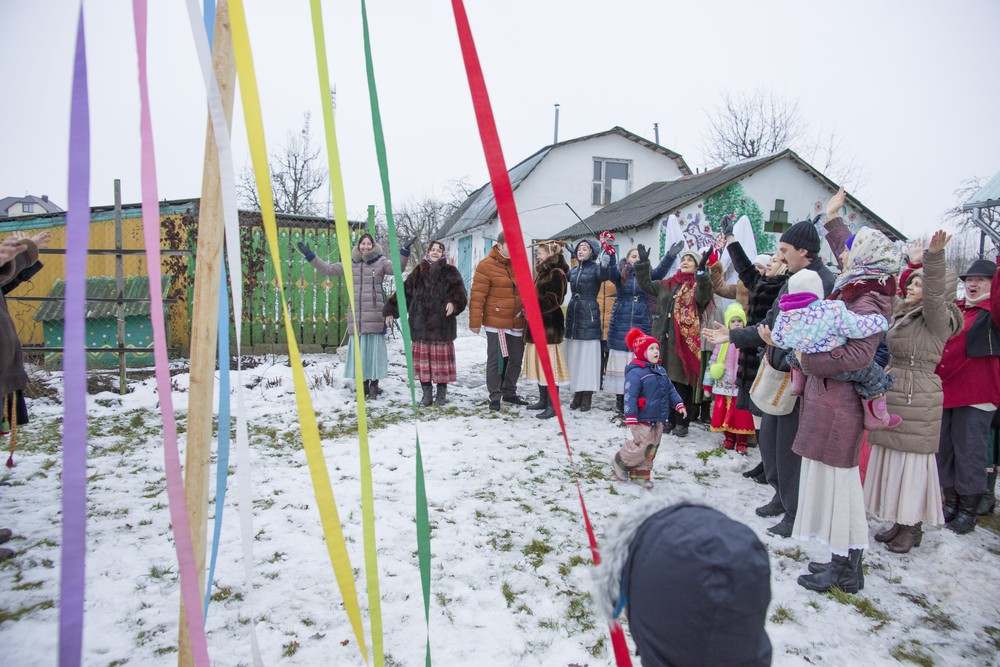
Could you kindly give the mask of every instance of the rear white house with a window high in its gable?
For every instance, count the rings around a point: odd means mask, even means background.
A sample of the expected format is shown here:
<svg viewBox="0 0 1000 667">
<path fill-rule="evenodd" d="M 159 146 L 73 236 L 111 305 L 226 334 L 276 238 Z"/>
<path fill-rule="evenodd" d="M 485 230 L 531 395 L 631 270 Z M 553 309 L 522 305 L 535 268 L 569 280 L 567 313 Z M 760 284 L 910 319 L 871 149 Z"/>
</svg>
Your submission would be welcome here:
<svg viewBox="0 0 1000 667">
<path fill-rule="evenodd" d="M 680 154 L 614 127 L 542 148 L 510 169 L 524 242 L 553 238 L 583 218 L 651 183 L 691 174 Z M 472 269 L 501 229 L 489 183 L 472 193 L 438 232 L 456 266 Z"/>
</svg>

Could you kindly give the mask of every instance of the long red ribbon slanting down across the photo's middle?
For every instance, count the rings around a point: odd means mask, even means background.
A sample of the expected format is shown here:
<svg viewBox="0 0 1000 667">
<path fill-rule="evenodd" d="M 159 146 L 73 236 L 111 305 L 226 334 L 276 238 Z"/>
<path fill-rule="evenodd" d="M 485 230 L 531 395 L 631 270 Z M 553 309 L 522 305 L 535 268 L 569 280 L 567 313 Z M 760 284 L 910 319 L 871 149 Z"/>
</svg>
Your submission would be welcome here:
<svg viewBox="0 0 1000 667">
<path fill-rule="evenodd" d="M 504 235 L 508 239 L 507 247 L 510 251 L 511 264 L 514 266 L 514 277 L 520 285 L 533 285 L 534 280 L 531 276 L 527 252 L 524 249 L 521 223 L 518 219 L 517 207 L 514 203 L 514 190 L 511 187 L 510 176 L 507 173 L 506 162 L 503 158 L 500 137 L 497 134 L 496 121 L 493 118 L 493 109 L 490 105 L 489 93 L 486 90 L 486 80 L 479 65 L 479 56 L 476 53 L 476 44 L 472 37 L 472 29 L 469 27 L 469 19 L 466 16 L 462 0 L 452 0 L 451 4 L 455 14 L 455 25 L 458 29 L 458 40 L 462 48 L 462 57 L 465 60 L 465 71 L 469 79 L 472 105 L 475 109 L 476 121 L 479 125 L 479 136 L 482 139 L 483 152 L 486 156 L 486 165 L 490 174 L 490 184 L 493 187 L 493 196 L 497 203 L 497 213 L 500 216 L 500 223 L 503 225 Z M 587 528 L 590 552 L 594 564 L 597 565 L 601 561 L 597 549 L 597 538 L 594 536 L 594 529 L 590 524 L 590 517 L 587 514 L 587 505 L 583 500 L 583 490 L 580 488 L 579 473 L 576 470 L 576 464 L 573 462 L 573 451 L 569 446 L 566 424 L 563 421 L 562 406 L 559 404 L 559 397 L 556 393 L 555 376 L 552 373 L 552 362 L 549 359 L 548 342 L 545 337 L 545 326 L 542 323 L 541 309 L 538 307 L 538 295 L 535 294 L 534 289 L 521 290 L 521 300 L 524 304 L 528 326 L 531 327 L 532 338 L 535 340 L 535 348 L 542 367 L 545 370 L 549 396 L 555 408 L 556 415 L 559 417 L 559 426 L 562 428 L 563 440 L 566 443 L 566 452 L 569 455 L 570 466 L 573 469 L 573 479 L 576 483 L 577 494 L 580 497 L 580 507 L 583 510 L 583 522 Z M 622 632 L 621 626 L 617 622 L 614 622 L 611 624 L 610 631 L 615 660 L 619 667 L 631 665 L 632 661 L 629 656 L 628 645 L 625 643 L 625 635 Z"/>
</svg>

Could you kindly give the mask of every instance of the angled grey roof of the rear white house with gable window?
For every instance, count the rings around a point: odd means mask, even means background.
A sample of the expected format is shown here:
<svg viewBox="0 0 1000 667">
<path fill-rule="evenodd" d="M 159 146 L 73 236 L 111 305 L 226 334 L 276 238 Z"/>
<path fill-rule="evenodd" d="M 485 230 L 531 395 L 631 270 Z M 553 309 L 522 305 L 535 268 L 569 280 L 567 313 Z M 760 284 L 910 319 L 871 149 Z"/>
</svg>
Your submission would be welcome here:
<svg viewBox="0 0 1000 667">
<path fill-rule="evenodd" d="M 528 156 L 518 164 L 514 165 L 507 172 L 510 176 L 511 188 L 517 190 L 524 179 L 538 166 L 538 164 L 545 159 L 545 157 L 554 148 L 560 146 L 568 146 L 570 144 L 580 143 L 582 141 L 588 141 L 591 139 L 597 139 L 600 137 L 609 136 L 612 134 L 617 134 L 629 141 L 634 141 L 640 146 L 644 146 L 652 151 L 660 153 L 669 157 L 674 163 L 677 164 L 677 168 L 682 174 L 690 174 L 691 168 L 688 167 L 684 158 L 681 157 L 680 153 L 675 153 L 674 151 L 660 146 L 657 143 L 649 141 L 640 137 L 638 134 L 629 132 L 628 130 L 615 126 L 610 130 L 605 130 L 604 132 L 597 132 L 596 134 L 588 134 L 582 137 L 576 137 L 574 139 L 567 139 L 566 141 L 560 141 L 556 144 L 551 144 L 540 149 L 533 155 Z M 469 195 L 462 205 L 449 217 L 441 229 L 438 230 L 438 238 L 444 238 L 445 236 L 452 236 L 454 234 L 459 234 L 462 232 L 469 231 L 484 225 L 497 215 L 497 204 L 496 200 L 493 198 L 493 188 L 490 187 L 489 182 L 483 185 L 481 188 Z"/>
</svg>

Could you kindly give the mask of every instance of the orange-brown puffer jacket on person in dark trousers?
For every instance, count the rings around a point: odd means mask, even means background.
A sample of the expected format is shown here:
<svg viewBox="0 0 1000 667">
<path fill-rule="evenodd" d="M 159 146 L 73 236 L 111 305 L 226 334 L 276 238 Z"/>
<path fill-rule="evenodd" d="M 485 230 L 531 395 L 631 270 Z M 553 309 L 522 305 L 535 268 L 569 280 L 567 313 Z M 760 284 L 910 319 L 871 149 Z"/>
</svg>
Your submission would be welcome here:
<svg viewBox="0 0 1000 667">
<path fill-rule="evenodd" d="M 495 245 L 479 264 L 469 296 L 469 328 L 521 330 L 524 307 L 514 279 L 514 267 Z"/>
</svg>

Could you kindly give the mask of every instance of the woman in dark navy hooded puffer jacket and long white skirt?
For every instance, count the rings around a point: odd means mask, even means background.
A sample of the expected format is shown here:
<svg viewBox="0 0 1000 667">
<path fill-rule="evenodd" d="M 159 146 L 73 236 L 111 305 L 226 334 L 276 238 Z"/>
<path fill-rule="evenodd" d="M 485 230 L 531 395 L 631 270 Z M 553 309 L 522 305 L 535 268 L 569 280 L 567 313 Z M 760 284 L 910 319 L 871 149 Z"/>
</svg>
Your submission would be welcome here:
<svg viewBox="0 0 1000 667">
<path fill-rule="evenodd" d="M 598 256 L 595 241 L 585 239 L 574 250 L 577 265 L 569 270 L 572 297 L 566 310 L 566 337 L 563 345 L 569 364 L 571 410 L 590 410 L 591 399 L 601 384 L 601 310 L 597 294 L 601 283 L 611 280 L 612 254 Z"/>
</svg>

